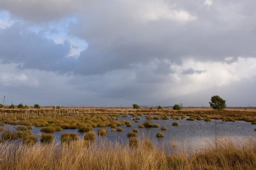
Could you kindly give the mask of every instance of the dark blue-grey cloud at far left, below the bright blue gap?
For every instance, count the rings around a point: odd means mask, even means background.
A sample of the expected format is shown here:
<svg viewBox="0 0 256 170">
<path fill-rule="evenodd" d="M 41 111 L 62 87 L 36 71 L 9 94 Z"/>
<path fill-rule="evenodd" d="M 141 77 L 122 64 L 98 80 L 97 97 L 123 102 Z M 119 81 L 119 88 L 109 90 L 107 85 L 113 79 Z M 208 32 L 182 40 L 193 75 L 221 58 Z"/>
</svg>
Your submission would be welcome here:
<svg viewBox="0 0 256 170">
<path fill-rule="evenodd" d="M 18 63 L 21 69 L 70 72 L 75 59 L 66 57 L 70 44 L 55 44 L 52 40 L 28 31 L 21 23 L 0 29 L 1 63 Z"/>
</svg>

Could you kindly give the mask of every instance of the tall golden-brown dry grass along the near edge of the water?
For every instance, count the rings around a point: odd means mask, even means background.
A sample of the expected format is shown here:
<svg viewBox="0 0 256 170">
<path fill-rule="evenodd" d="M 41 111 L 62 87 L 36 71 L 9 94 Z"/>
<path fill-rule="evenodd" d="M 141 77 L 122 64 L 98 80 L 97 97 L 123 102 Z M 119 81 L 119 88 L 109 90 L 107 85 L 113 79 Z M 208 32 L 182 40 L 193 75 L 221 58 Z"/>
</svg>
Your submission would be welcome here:
<svg viewBox="0 0 256 170">
<path fill-rule="evenodd" d="M 1 170 L 252 170 L 256 169 L 256 143 L 248 140 L 221 141 L 203 150 L 177 150 L 138 147 L 99 141 L 86 147 L 82 140 L 69 147 L 56 145 L 0 144 Z M 171 147 L 171 146 L 170 146 Z"/>
</svg>

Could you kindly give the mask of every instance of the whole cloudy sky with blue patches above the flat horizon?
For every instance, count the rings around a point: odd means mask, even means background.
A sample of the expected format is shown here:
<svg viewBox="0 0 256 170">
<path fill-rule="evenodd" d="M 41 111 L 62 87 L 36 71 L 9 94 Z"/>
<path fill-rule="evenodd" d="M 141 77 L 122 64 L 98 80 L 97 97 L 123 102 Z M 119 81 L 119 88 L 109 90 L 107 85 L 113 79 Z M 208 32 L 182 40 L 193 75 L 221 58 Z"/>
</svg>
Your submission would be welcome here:
<svg viewBox="0 0 256 170">
<path fill-rule="evenodd" d="M 255 0 L 1 0 L 5 104 L 256 106 Z"/>
</svg>

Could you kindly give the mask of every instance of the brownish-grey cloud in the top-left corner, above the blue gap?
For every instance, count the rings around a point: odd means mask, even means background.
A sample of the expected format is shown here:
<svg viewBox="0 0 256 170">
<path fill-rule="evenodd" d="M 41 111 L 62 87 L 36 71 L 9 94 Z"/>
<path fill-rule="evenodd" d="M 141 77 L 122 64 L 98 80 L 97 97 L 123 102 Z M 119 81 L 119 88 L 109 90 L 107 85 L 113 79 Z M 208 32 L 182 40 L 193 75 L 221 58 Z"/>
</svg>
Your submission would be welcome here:
<svg viewBox="0 0 256 170">
<path fill-rule="evenodd" d="M 7 10 L 13 18 L 44 23 L 69 17 L 84 4 L 84 0 L 2 0 L 0 10 Z"/>
</svg>

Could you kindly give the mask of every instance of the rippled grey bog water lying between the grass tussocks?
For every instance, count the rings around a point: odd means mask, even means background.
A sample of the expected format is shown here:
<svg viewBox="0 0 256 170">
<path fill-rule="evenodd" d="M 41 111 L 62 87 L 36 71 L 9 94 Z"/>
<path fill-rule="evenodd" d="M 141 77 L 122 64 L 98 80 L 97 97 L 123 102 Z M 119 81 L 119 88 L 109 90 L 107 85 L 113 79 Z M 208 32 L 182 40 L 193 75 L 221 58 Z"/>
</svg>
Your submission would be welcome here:
<svg viewBox="0 0 256 170">
<path fill-rule="evenodd" d="M 112 142 L 119 142 L 126 144 L 128 142 L 127 133 L 132 132 L 134 128 L 138 128 L 138 125 L 143 124 L 146 120 L 145 116 L 137 116 L 140 118 L 139 122 L 135 122 L 133 118 L 136 117 L 119 117 L 119 121 L 126 120 L 131 122 L 131 127 L 116 126 L 116 128 L 121 127 L 123 129 L 122 132 L 117 132 L 115 128 L 115 132 L 111 132 L 111 127 L 107 126 L 104 129 L 108 130 L 107 136 L 100 136 L 105 140 L 109 140 Z M 179 122 L 179 126 L 172 126 L 173 122 Z M 137 136 L 139 139 L 147 139 L 149 138 L 153 143 L 161 146 L 162 144 L 177 144 L 182 145 L 186 144 L 190 148 L 198 148 L 200 146 L 204 146 L 208 142 L 214 142 L 214 140 L 224 139 L 224 137 L 229 137 L 229 139 L 255 139 L 256 138 L 256 128 L 255 124 L 251 124 L 251 122 L 246 121 L 235 121 L 235 122 L 226 122 L 222 120 L 214 120 L 211 121 L 188 121 L 185 119 L 181 120 L 151 120 L 152 124 L 159 124 L 159 128 L 138 128 L 139 132 Z M 167 129 L 165 131 L 161 130 L 161 126 L 166 126 Z M 15 131 L 17 126 L 15 125 L 4 125 L 5 129 L 10 129 Z M 40 132 L 41 127 L 33 126 L 33 129 L 30 131 L 37 136 L 38 142 L 40 141 Z M 99 128 L 93 128 L 93 131 L 97 134 Z M 60 141 L 60 137 L 62 133 L 66 132 L 75 132 L 78 133 L 79 136 L 84 135 L 84 132 L 78 132 L 78 129 L 63 129 L 62 131 L 52 132 L 55 136 L 55 142 Z M 164 137 L 157 138 L 156 134 L 158 132 L 162 132 Z"/>
</svg>

